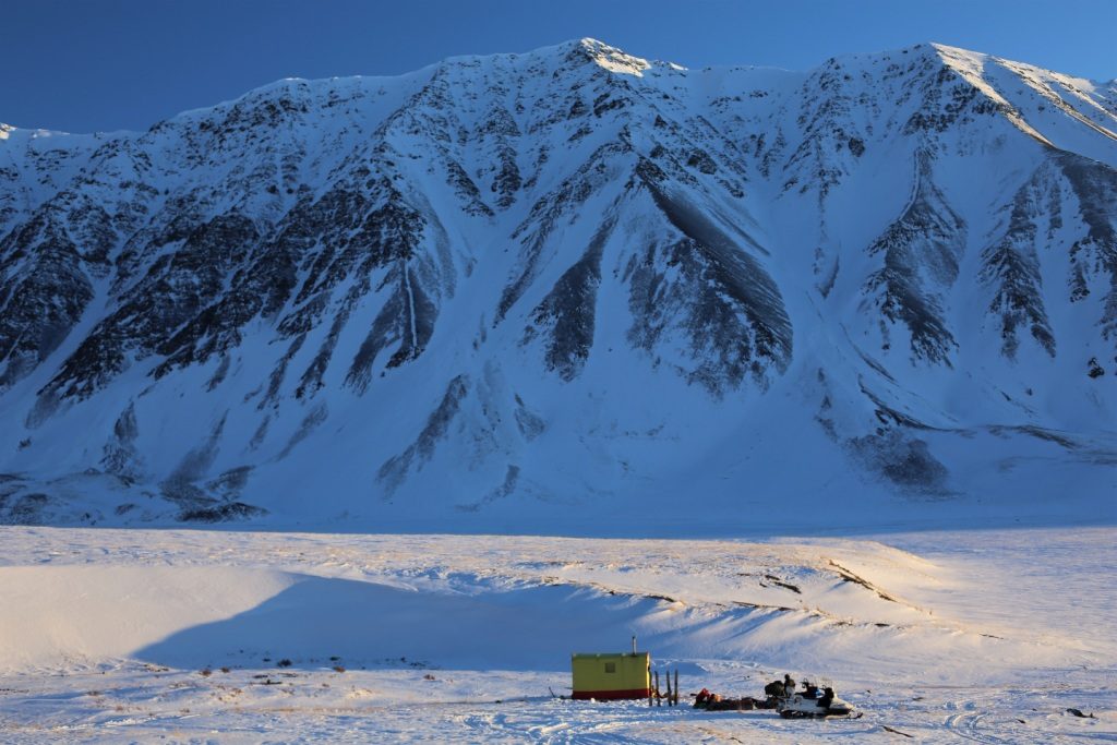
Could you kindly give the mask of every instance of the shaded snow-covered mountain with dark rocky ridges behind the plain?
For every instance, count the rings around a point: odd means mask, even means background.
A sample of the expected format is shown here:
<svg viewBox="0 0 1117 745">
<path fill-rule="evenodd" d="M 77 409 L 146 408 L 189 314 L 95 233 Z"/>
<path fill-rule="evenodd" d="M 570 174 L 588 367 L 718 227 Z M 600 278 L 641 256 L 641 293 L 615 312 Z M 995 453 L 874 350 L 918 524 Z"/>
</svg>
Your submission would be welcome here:
<svg viewBox="0 0 1117 745">
<path fill-rule="evenodd" d="M 583 39 L 0 125 L 0 184 L 4 522 L 1117 517 L 1117 83 Z"/>
</svg>

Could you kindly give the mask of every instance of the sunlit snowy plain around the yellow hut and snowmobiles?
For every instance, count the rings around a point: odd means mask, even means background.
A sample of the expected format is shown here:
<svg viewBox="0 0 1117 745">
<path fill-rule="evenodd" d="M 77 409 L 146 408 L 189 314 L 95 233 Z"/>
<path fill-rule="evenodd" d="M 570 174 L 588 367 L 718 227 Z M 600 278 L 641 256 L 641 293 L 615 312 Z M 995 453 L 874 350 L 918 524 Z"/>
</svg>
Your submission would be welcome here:
<svg viewBox="0 0 1117 745">
<path fill-rule="evenodd" d="M 1108 527 L 757 542 L 3 527 L 0 544 L 4 743 L 1117 739 Z M 570 691 L 571 652 L 631 634 L 685 695 L 760 696 L 786 671 L 863 716 L 552 696 Z"/>
</svg>

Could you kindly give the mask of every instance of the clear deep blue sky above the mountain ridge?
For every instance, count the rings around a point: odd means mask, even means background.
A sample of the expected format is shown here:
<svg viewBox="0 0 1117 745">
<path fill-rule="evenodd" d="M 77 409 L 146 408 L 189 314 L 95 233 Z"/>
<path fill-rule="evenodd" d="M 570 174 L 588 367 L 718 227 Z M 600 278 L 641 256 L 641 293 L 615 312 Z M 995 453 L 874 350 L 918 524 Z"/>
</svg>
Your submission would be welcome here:
<svg viewBox="0 0 1117 745">
<path fill-rule="evenodd" d="M 391 75 L 584 36 L 688 67 L 808 69 L 941 41 L 1117 77 L 1117 0 L 15 0 L 0 122 L 144 130 L 281 77 Z"/>
</svg>

